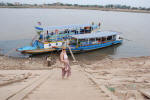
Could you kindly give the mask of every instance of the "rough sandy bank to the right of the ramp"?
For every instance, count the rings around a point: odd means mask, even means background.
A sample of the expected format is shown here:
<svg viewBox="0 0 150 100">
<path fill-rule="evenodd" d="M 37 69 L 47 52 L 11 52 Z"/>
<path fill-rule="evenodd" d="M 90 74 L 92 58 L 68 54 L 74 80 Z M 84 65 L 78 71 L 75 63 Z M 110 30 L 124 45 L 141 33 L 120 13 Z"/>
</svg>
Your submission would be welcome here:
<svg viewBox="0 0 150 100">
<path fill-rule="evenodd" d="M 150 57 L 103 59 L 83 67 L 120 100 L 147 100 L 140 91 L 150 89 Z"/>
</svg>

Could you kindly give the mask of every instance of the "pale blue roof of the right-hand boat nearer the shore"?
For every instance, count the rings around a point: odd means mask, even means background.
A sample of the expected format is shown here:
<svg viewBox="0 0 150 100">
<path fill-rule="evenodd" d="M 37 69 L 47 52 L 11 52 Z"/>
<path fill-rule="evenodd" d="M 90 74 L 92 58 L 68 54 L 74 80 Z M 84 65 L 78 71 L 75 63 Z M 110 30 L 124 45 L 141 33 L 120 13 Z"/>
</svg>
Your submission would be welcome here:
<svg viewBox="0 0 150 100">
<path fill-rule="evenodd" d="M 119 35 L 120 32 L 113 32 L 113 31 L 98 31 L 91 34 L 79 34 L 79 35 L 72 35 L 71 37 L 76 39 L 89 39 L 89 38 L 100 38 L 100 37 L 107 37 L 113 35 Z"/>
</svg>

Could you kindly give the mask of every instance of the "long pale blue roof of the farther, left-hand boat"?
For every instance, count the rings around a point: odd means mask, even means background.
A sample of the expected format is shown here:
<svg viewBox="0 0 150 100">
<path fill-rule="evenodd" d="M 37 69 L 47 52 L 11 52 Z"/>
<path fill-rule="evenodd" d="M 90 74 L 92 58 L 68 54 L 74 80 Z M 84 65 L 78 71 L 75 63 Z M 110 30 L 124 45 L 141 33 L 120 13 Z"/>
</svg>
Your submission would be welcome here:
<svg viewBox="0 0 150 100">
<path fill-rule="evenodd" d="M 35 29 L 44 31 L 44 30 L 62 30 L 62 29 L 77 29 L 81 27 L 88 27 L 88 26 L 97 26 L 97 25 L 92 25 L 92 24 L 72 24 L 72 25 L 62 25 L 62 26 L 47 26 L 47 27 L 40 27 L 36 26 Z"/>
</svg>

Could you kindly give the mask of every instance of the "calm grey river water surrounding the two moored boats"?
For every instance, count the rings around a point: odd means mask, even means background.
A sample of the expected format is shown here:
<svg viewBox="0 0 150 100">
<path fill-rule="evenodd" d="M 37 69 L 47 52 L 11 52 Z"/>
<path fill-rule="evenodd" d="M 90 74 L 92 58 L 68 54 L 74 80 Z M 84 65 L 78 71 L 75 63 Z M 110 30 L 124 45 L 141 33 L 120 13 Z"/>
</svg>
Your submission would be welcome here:
<svg viewBox="0 0 150 100">
<path fill-rule="evenodd" d="M 15 49 L 29 45 L 36 35 L 34 26 L 89 24 L 101 22 L 101 30 L 122 32 L 123 44 L 77 54 L 77 58 L 150 56 L 150 14 L 72 9 L 0 9 L 0 52 L 21 56 Z"/>
</svg>

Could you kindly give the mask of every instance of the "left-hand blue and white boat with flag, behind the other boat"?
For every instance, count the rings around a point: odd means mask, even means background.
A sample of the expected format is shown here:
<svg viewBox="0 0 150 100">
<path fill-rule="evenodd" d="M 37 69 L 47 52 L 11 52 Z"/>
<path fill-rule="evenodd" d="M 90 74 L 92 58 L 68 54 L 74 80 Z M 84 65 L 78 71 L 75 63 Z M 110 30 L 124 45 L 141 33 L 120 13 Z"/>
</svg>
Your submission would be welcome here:
<svg viewBox="0 0 150 100">
<path fill-rule="evenodd" d="M 17 51 L 25 54 L 39 54 L 45 52 L 56 51 L 63 45 L 66 45 L 66 40 L 70 40 L 75 35 L 92 34 L 99 30 L 99 24 L 84 24 L 84 25 L 63 25 L 63 26 L 36 26 L 38 33 L 32 39 L 30 46 L 18 48 Z"/>
</svg>

